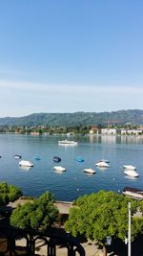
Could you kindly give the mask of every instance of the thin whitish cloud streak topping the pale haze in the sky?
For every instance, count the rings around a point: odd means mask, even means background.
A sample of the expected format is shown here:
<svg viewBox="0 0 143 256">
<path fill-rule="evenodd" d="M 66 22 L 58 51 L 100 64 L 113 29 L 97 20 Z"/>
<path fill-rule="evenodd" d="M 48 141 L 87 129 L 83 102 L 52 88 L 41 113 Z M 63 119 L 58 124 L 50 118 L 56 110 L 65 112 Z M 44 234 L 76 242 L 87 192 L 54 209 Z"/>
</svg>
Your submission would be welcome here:
<svg viewBox="0 0 143 256">
<path fill-rule="evenodd" d="M 101 84 L 54 84 L 54 83 L 36 83 L 31 81 L 0 81 L 0 89 L 17 89 L 24 91 L 37 91 L 37 92 L 65 92 L 72 93 L 74 91 L 80 92 L 81 94 L 85 92 L 96 92 L 96 93 L 128 93 L 128 94 L 138 94 L 143 93 L 143 88 L 140 86 L 115 86 L 115 85 L 101 85 Z"/>
</svg>

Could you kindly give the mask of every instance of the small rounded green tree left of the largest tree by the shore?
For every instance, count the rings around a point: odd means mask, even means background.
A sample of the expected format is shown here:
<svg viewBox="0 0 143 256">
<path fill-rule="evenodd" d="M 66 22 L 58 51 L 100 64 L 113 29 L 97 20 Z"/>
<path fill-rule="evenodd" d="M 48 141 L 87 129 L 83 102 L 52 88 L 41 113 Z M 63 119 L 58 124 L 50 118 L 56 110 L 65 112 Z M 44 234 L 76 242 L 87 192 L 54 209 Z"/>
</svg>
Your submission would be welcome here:
<svg viewBox="0 0 143 256">
<path fill-rule="evenodd" d="M 19 205 L 10 216 L 10 224 L 23 229 L 47 230 L 58 216 L 58 210 L 53 202 L 54 198 L 47 191 L 32 202 Z"/>
</svg>

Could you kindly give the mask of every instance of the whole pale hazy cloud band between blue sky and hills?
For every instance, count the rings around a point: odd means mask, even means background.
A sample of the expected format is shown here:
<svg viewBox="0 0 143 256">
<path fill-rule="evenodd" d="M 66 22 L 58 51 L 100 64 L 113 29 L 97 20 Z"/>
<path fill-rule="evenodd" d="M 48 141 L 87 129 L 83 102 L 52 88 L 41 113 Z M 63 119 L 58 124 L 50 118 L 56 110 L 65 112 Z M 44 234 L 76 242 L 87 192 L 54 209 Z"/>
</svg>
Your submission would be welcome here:
<svg viewBox="0 0 143 256">
<path fill-rule="evenodd" d="M 139 86 L 0 81 L 1 116 L 142 109 L 142 98 L 143 88 Z"/>
</svg>

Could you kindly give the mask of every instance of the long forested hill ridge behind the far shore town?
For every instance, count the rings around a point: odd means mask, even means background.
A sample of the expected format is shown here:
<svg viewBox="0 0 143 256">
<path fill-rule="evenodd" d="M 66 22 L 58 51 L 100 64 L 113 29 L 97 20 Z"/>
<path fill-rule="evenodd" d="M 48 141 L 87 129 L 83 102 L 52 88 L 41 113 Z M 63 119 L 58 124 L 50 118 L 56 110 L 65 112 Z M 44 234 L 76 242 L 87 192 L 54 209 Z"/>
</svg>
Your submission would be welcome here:
<svg viewBox="0 0 143 256">
<path fill-rule="evenodd" d="M 2 117 L 0 126 L 79 126 L 110 124 L 143 124 L 143 110 L 127 109 L 104 112 L 32 113 L 22 117 Z"/>
</svg>

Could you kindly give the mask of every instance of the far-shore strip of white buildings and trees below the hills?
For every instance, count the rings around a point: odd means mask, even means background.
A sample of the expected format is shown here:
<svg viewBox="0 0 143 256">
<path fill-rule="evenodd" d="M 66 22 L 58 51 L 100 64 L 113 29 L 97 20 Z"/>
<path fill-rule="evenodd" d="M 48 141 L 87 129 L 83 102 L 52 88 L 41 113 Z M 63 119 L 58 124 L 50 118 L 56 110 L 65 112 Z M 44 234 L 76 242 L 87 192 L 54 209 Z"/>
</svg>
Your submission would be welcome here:
<svg viewBox="0 0 143 256">
<path fill-rule="evenodd" d="M 32 127 L 0 127 L 0 133 L 30 134 L 39 135 L 121 135 L 137 136 L 143 138 L 143 126 L 125 125 L 122 127 L 101 127 L 101 126 L 76 126 L 76 127 L 49 127 L 49 126 L 32 126 Z"/>
</svg>

